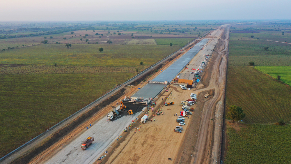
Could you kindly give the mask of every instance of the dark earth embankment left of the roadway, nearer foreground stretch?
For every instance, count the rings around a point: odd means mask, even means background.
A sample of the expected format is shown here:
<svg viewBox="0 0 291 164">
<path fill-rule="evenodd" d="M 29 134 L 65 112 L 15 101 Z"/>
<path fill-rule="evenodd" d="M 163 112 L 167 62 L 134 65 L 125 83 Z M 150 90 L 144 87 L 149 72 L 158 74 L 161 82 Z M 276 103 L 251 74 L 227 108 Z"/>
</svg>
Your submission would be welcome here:
<svg viewBox="0 0 291 164">
<path fill-rule="evenodd" d="M 112 103 L 114 100 L 119 98 L 124 94 L 125 89 L 121 89 L 116 94 L 108 98 L 107 100 L 104 100 L 102 103 L 98 104 L 97 106 L 93 107 L 88 112 L 82 114 L 77 119 L 73 120 L 70 124 L 65 126 L 64 128 L 60 129 L 58 132 L 54 133 L 52 137 L 50 137 L 48 140 L 46 140 L 41 146 L 31 150 L 28 154 L 24 154 L 22 157 L 17 158 L 15 161 L 12 162 L 12 164 L 25 164 L 28 163 L 32 158 L 37 156 L 40 152 L 43 150 L 49 148 L 52 146 L 55 142 L 60 140 L 63 136 L 68 134 L 70 131 L 72 131 L 74 128 L 79 126 L 82 122 L 84 122 L 86 119 L 90 118 L 93 114 L 98 112 L 103 107 L 106 107 L 110 103 Z"/>
</svg>

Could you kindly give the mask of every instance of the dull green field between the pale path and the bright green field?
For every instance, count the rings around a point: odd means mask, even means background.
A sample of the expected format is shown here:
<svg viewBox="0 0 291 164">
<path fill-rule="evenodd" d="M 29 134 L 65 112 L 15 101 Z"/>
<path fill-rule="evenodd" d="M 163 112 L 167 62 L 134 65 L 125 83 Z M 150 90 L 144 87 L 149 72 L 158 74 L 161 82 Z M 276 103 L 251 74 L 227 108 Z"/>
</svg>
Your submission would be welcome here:
<svg viewBox="0 0 291 164">
<path fill-rule="evenodd" d="M 291 66 L 291 46 L 263 40 L 230 40 L 228 65 L 247 66 L 250 61 L 255 66 Z"/>
</svg>

